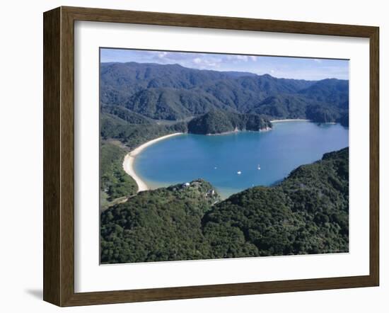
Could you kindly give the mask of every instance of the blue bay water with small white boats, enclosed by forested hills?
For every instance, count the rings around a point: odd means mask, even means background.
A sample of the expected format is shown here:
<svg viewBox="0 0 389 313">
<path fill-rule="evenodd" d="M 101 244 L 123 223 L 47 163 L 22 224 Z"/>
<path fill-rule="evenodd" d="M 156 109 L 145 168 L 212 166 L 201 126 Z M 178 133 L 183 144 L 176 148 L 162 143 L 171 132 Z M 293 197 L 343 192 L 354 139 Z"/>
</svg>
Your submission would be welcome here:
<svg viewBox="0 0 389 313">
<path fill-rule="evenodd" d="M 252 186 L 277 183 L 296 167 L 349 145 L 349 129 L 339 124 L 273 125 L 269 132 L 170 137 L 144 149 L 134 169 L 151 188 L 203 178 L 226 198 Z"/>
</svg>

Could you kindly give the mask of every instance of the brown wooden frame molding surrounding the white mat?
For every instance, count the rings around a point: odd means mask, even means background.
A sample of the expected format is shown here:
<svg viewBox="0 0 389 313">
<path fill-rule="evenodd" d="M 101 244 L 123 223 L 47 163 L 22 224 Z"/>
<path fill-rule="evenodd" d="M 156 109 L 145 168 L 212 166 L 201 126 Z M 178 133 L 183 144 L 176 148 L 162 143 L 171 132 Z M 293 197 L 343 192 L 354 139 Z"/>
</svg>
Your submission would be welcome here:
<svg viewBox="0 0 389 313">
<path fill-rule="evenodd" d="M 252 18 L 59 7 L 44 21 L 43 299 L 59 306 L 100 305 L 270 292 L 358 288 L 379 284 L 379 28 Z M 74 21 L 137 23 L 337 35 L 370 40 L 370 273 L 364 276 L 74 292 Z"/>
</svg>

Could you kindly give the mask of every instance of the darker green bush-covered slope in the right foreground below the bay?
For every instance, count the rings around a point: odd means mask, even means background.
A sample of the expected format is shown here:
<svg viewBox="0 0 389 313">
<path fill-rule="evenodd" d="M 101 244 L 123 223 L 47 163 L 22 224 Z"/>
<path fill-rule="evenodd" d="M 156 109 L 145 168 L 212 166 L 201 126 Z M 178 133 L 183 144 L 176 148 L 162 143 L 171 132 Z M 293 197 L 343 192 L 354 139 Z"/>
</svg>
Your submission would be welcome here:
<svg viewBox="0 0 389 313">
<path fill-rule="evenodd" d="M 279 186 L 232 195 L 203 218 L 212 258 L 244 256 L 226 232 L 241 234 L 257 256 L 347 252 L 349 243 L 348 149 L 300 166 Z M 228 251 L 228 253 L 226 252 Z"/>
</svg>

